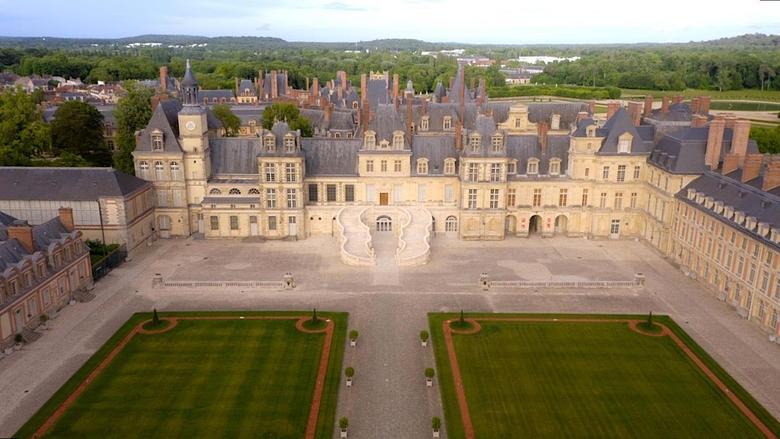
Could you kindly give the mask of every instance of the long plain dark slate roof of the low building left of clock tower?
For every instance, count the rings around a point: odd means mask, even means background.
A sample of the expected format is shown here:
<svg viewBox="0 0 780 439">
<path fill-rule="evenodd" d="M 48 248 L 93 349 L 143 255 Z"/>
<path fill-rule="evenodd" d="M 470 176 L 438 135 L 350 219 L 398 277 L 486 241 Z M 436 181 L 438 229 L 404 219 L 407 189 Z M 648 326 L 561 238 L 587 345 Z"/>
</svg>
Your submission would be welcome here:
<svg viewBox="0 0 780 439">
<path fill-rule="evenodd" d="M 0 167 L 0 200 L 95 201 L 151 186 L 112 168 Z"/>
</svg>

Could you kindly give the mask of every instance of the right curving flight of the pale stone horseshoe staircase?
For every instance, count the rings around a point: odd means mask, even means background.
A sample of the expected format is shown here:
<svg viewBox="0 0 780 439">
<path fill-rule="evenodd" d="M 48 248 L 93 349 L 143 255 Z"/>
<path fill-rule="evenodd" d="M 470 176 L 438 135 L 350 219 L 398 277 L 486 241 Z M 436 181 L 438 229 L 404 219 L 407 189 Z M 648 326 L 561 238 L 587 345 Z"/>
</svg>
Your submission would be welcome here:
<svg viewBox="0 0 780 439">
<path fill-rule="evenodd" d="M 408 222 L 402 225 L 396 262 L 401 266 L 427 264 L 431 259 L 431 213 L 424 207 L 404 208 Z"/>
</svg>

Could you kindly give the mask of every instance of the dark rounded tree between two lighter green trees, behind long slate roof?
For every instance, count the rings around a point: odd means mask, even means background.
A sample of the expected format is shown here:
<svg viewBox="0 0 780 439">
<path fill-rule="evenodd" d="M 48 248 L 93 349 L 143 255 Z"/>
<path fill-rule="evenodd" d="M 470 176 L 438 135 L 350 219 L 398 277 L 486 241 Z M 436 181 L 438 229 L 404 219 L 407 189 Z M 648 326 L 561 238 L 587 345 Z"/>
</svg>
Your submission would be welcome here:
<svg viewBox="0 0 780 439">
<path fill-rule="evenodd" d="M 85 102 L 65 102 L 54 113 L 51 141 L 58 153 L 79 155 L 95 166 L 111 166 L 103 138 L 103 115 Z"/>
</svg>

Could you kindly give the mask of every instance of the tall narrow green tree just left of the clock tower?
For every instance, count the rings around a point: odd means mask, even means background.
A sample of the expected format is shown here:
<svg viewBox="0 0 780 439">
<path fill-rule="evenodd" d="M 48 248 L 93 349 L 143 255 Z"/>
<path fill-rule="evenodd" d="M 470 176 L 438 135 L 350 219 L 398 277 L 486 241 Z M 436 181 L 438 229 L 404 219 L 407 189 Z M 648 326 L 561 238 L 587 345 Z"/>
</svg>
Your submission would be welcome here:
<svg viewBox="0 0 780 439">
<path fill-rule="evenodd" d="M 117 152 L 114 167 L 127 174 L 134 174 L 133 151 L 135 132 L 143 129 L 152 118 L 153 91 L 136 83 L 125 85 L 127 96 L 119 100 L 114 110 L 117 123 Z"/>
</svg>

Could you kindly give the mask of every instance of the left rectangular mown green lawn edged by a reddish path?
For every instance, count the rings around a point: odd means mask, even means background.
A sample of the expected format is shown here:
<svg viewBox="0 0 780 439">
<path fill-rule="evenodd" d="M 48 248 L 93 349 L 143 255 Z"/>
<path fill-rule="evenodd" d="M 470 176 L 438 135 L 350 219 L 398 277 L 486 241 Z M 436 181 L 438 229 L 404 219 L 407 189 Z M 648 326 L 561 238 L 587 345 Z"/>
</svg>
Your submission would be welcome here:
<svg viewBox="0 0 780 439">
<path fill-rule="evenodd" d="M 135 315 L 17 436 L 331 437 L 346 315 L 323 314 L 334 324 L 317 333 L 298 328 L 305 315 L 167 314 L 151 333 Z"/>
</svg>

